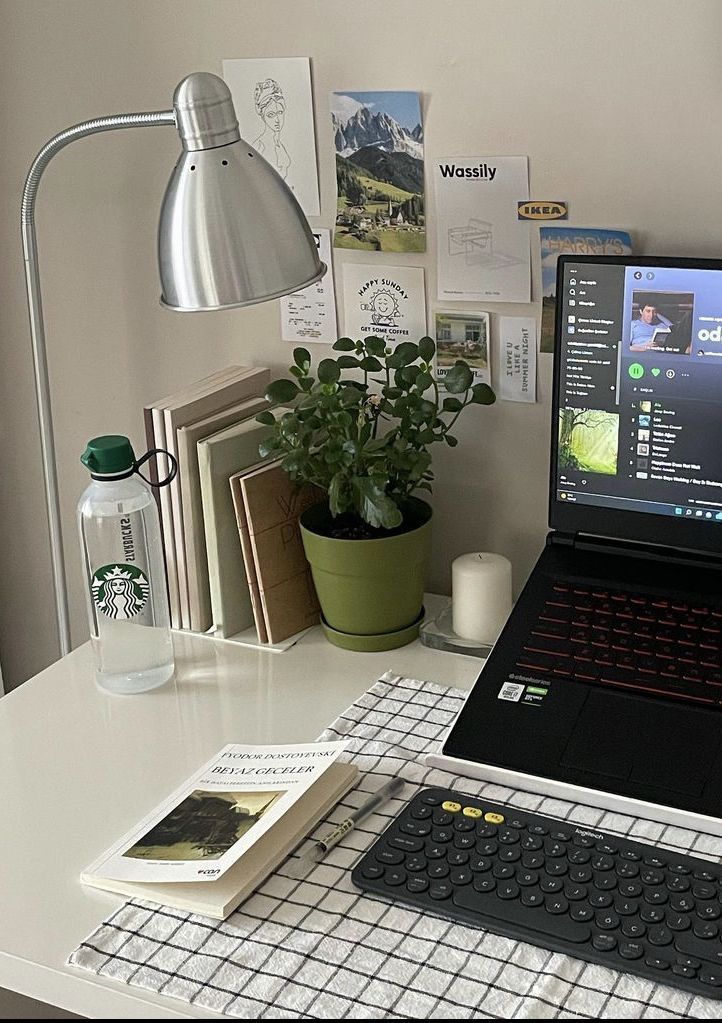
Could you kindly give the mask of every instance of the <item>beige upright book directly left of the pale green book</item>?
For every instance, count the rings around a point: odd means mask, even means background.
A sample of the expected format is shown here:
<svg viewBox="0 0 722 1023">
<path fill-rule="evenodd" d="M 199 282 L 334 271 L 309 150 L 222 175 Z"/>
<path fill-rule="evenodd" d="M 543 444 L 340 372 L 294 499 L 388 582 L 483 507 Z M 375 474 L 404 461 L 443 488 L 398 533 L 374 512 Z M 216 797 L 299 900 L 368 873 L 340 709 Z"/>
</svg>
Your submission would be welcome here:
<svg viewBox="0 0 722 1023">
<path fill-rule="evenodd" d="M 198 419 L 197 422 L 180 427 L 176 431 L 188 584 L 189 628 L 194 632 L 206 632 L 213 624 L 208 551 L 204 531 L 204 507 L 200 500 L 197 443 L 234 422 L 253 418 L 267 408 L 268 402 L 265 398 L 247 398 L 230 405 L 228 408 L 213 412 L 211 415 Z"/>
</svg>

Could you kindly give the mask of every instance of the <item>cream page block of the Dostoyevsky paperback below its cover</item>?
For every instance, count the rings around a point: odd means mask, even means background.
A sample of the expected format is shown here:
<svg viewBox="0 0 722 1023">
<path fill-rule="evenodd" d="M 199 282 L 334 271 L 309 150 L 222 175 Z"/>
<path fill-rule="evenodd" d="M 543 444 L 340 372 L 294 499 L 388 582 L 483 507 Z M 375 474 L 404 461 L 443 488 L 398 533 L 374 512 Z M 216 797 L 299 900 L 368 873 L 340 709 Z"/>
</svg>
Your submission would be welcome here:
<svg viewBox="0 0 722 1023">
<path fill-rule="evenodd" d="M 331 764 L 217 881 L 118 881 L 94 873 L 95 864 L 81 874 L 81 881 L 130 898 L 148 899 L 184 913 L 225 920 L 333 809 L 357 776 L 358 768 L 353 764 Z"/>
</svg>

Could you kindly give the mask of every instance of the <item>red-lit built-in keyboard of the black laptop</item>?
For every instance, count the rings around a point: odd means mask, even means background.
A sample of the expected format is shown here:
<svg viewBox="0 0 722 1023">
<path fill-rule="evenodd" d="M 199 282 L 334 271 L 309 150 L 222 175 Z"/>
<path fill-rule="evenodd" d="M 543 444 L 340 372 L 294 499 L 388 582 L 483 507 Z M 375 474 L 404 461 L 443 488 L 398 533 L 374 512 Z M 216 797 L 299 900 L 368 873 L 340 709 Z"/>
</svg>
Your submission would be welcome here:
<svg viewBox="0 0 722 1023">
<path fill-rule="evenodd" d="M 722 707 L 721 650 L 720 607 L 557 582 L 516 667 Z"/>
</svg>

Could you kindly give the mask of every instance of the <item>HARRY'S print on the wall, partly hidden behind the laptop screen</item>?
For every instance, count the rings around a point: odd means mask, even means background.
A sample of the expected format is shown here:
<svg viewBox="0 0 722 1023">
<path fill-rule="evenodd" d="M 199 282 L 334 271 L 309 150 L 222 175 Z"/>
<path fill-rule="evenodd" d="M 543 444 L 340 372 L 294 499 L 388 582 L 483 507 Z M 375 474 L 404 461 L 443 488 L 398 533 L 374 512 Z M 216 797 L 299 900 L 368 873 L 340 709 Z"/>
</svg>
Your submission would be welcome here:
<svg viewBox="0 0 722 1023">
<path fill-rule="evenodd" d="M 542 328 L 540 352 L 554 351 L 556 312 L 556 260 L 559 256 L 630 256 L 632 239 L 627 231 L 599 227 L 540 227 L 542 263 Z"/>
</svg>

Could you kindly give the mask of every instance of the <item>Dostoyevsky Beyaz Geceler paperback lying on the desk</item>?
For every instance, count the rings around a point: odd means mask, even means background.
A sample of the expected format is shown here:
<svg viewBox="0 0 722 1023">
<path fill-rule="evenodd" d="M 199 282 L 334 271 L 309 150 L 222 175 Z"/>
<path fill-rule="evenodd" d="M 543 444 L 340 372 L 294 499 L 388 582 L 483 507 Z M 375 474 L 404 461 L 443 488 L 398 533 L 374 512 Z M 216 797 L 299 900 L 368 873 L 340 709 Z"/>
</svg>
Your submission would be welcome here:
<svg viewBox="0 0 722 1023">
<path fill-rule="evenodd" d="M 224 920 L 354 785 L 345 743 L 230 745 L 81 874 L 94 888 Z"/>
</svg>

